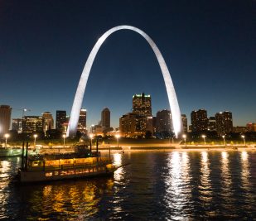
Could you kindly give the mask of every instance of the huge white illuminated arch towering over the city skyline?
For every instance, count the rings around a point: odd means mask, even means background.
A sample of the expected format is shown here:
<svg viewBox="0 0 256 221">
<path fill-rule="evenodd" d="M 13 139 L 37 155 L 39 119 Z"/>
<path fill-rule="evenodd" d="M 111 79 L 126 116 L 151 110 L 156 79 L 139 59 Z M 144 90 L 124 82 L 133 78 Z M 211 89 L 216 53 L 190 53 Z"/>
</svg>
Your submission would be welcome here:
<svg viewBox="0 0 256 221">
<path fill-rule="evenodd" d="M 151 37 L 147 36 L 147 34 L 144 31 L 138 29 L 135 26 L 115 26 L 109 29 L 109 31 L 106 31 L 104 35 L 101 36 L 99 40 L 96 42 L 96 44 L 94 45 L 93 50 L 91 50 L 89 57 L 86 60 L 84 70 L 80 77 L 80 82 L 76 89 L 75 99 L 74 99 L 74 103 L 70 113 L 70 122 L 67 129 L 66 137 L 73 137 L 76 134 L 78 120 L 80 116 L 80 108 L 82 107 L 85 88 L 86 88 L 87 80 L 89 78 L 89 72 L 94 63 L 95 56 L 97 55 L 100 46 L 102 46 L 102 44 L 107 39 L 107 37 L 109 37 L 115 31 L 119 31 L 119 30 L 131 30 L 131 31 L 137 32 L 142 37 L 144 37 L 147 43 L 152 47 L 152 50 L 154 51 L 157 57 L 157 61 L 162 70 L 162 76 L 166 85 L 168 100 L 171 108 L 171 118 L 172 118 L 173 129 L 176 137 L 178 137 L 178 134 L 181 132 L 181 111 L 180 111 L 178 100 L 176 98 L 176 92 L 171 80 L 171 75 L 167 68 L 167 64 L 163 59 L 160 50 L 157 48 L 157 45 L 154 43 L 154 41 L 152 41 Z"/>
</svg>

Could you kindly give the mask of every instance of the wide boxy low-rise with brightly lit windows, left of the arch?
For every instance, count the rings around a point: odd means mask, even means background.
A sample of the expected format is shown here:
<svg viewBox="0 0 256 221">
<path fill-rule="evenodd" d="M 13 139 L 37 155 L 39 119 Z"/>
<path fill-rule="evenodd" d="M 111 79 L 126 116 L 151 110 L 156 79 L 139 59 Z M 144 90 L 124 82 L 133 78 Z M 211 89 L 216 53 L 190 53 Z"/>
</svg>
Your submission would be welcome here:
<svg viewBox="0 0 256 221">
<path fill-rule="evenodd" d="M 43 118 L 40 116 L 22 117 L 22 132 L 42 132 Z"/>
</svg>

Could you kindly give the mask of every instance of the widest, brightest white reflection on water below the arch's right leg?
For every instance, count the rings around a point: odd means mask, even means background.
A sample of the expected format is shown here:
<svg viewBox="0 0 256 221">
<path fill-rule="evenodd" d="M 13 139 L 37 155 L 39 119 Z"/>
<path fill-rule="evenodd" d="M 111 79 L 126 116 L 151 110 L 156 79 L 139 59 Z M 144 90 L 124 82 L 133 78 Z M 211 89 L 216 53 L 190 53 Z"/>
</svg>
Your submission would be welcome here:
<svg viewBox="0 0 256 221">
<path fill-rule="evenodd" d="M 171 219 L 186 219 L 189 215 L 186 207 L 191 200 L 189 156 L 187 152 L 178 151 L 171 152 L 169 156 L 165 203 L 172 210 Z"/>
</svg>

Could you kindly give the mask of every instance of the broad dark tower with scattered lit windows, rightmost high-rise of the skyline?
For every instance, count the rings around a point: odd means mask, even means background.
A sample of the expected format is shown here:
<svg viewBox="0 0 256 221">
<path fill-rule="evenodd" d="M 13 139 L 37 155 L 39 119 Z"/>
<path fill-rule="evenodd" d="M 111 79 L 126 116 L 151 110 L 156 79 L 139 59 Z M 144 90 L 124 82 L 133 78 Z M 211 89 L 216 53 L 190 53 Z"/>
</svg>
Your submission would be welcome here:
<svg viewBox="0 0 256 221">
<path fill-rule="evenodd" d="M 216 128 L 219 135 L 225 135 L 233 131 L 232 113 L 229 111 L 215 114 Z"/>
</svg>

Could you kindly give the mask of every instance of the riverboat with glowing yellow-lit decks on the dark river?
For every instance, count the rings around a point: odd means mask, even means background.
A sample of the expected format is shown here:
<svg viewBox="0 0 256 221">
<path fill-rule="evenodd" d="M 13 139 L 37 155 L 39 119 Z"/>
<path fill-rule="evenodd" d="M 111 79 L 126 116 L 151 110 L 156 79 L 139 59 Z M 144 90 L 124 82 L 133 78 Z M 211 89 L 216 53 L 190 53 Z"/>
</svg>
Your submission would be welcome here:
<svg viewBox="0 0 256 221">
<path fill-rule="evenodd" d="M 22 155 L 22 167 L 17 178 L 22 183 L 66 180 L 111 175 L 116 170 L 110 154 L 102 157 L 98 148 L 92 152 L 87 147 L 75 147 L 74 153 Z"/>
</svg>

